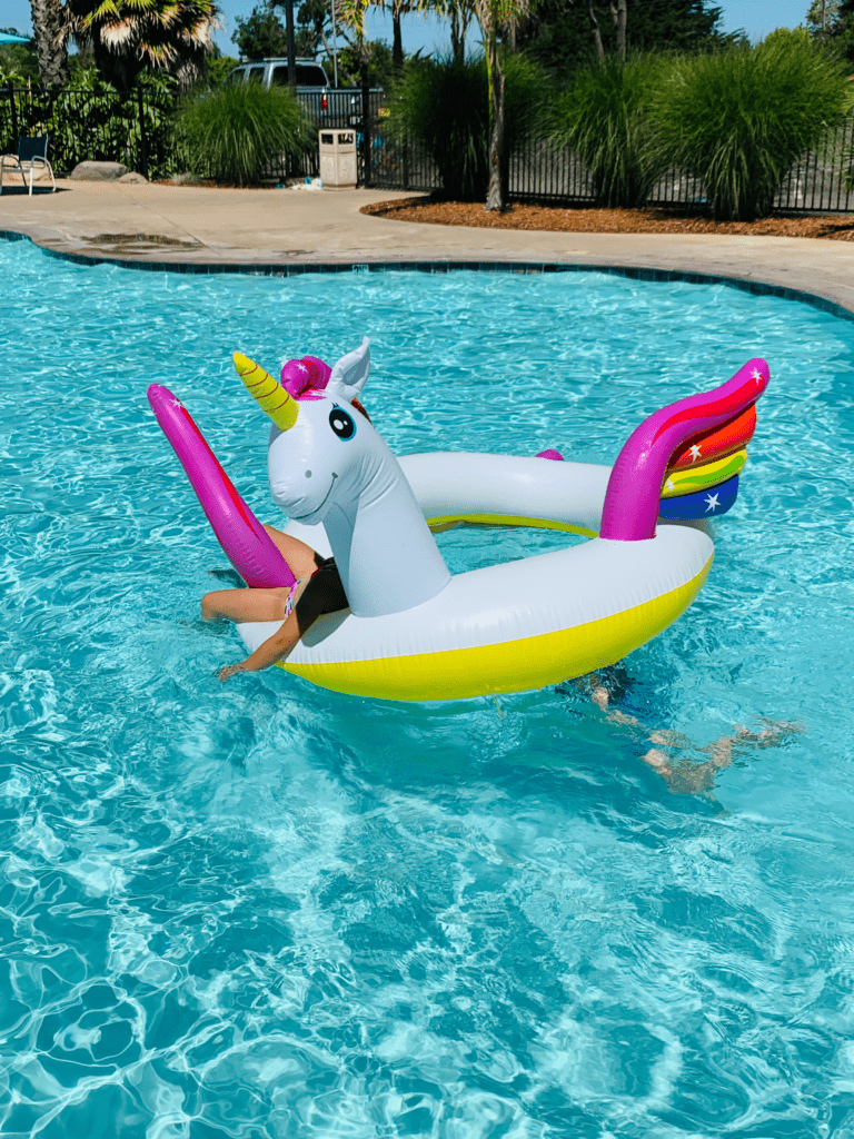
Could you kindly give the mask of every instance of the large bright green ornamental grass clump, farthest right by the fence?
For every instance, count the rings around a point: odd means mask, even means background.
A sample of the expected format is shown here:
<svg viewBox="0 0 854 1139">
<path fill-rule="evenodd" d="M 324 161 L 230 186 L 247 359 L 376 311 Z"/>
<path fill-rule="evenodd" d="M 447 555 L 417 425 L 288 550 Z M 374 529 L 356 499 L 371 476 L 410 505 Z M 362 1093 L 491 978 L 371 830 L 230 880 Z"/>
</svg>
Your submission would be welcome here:
<svg viewBox="0 0 854 1139">
<path fill-rule="evenodd" d="M 660 145 L 700 178 L 714 218 L 764 218 L 794 163 L 849 107 L 845 73 L 803 28 L 675 60 L 656 95 Z"/>
</svg>

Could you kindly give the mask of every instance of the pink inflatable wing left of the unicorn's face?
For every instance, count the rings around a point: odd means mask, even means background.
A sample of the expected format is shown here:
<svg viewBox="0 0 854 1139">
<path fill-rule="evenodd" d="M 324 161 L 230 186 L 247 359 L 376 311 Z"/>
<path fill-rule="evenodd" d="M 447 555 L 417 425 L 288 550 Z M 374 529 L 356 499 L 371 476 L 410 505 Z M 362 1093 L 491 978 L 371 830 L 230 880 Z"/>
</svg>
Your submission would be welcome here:
<svg viewBox="0 0 854 1139">
<path fill-rule="evenodd" d="M 293 585 L 294 575 L 287 562 L 235 490 L 187 408 L 159 384 L 148 388 L 148 402 L 181 460 L 220 546 L 246 584 L 253 589 Z"/>
</svg>

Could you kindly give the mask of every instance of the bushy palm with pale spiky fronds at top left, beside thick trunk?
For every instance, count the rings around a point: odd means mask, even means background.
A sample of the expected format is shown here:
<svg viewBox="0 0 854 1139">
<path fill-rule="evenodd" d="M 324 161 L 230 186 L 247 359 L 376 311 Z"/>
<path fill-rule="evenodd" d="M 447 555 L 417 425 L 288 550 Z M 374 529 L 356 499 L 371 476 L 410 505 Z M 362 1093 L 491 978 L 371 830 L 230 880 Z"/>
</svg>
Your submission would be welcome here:
<svg viewBox="0 0 854 1139">
<path fill-rule="evenodd" d="M 147 67 L 190 87 L 213 50 L 215 0 L 66 0 L 66 35 L 91 46 L 101 76 L 130 90 Z"/>
</svg>

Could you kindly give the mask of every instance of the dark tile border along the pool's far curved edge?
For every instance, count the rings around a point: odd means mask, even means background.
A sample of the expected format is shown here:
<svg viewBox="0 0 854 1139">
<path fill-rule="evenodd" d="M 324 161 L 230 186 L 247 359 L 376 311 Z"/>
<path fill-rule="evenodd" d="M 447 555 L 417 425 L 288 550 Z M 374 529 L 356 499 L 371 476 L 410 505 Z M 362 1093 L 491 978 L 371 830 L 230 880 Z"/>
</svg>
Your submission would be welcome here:
<svg viewBox="0 0 854 1139">
<path fill-rule="evenodd" d="M 28 233 L 16 230 L 0 229 L 0 240 L 33 241 Z M 294 264 L 269 264 L 254 262 L 223 261 L 197 263 L 190 261 L 138 261 L 131 257 L 97 257 L 88 253 L 71 253 L 65 249 L 51 249 L 33 244 L 49 257 L 59 257 L 77 265 L 115 265 L 117 269 L 140 269 L 143 272 L 157 273 L 243 273 L 248 277 L 302 277 L 304 273 L 351 273 L 351 272 L 421 272 L 450 273 L 460 270 L 475 272 L 504 273 L 610 273 L 614 277 L 625 277 L 641 281 L 684 281 L 689 285 L 726 285 L 753 293 L 756 296 L 779 296 L 783 301 L 799 301 L 812 305 L 834 317 L 854 321 L 854 312 L 836 301 L 807 293 L 805 289 L 789 288 L 786 285 L 771 285 L 767 281 L 748 280 L 744 277 L 726 277 L 722 273 L 704 273 L 684 269 L 656 269 L 646 265 L 598 265 L 564 261 L 313 261 Z"/>
</svg>

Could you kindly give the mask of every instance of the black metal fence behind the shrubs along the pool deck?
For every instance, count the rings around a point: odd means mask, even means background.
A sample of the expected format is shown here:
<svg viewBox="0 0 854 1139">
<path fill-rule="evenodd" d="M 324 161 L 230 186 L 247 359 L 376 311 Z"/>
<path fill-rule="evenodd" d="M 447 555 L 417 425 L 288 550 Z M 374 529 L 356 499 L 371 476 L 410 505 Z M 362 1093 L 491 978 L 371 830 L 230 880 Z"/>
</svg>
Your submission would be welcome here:
<svg viewBox="0 0 854 1139">
<path fill-rule="evenodd" d="M 441 189 L 438 172 L 413 140 L 388 131 L 388 108 L 381 90 L 338 88 L 301 91 L 298 97 L 312 128 L 356 131 L 360 185 L 378 189 L 429 191 Z M 367 105 L 367 107 L 366 107 Z M 58 92 L 0 88 L 0 145 L 14 153 L 22 134 L 49 134 L 50 159 L 67 173 L 84 159 L 122 162 L 156 179 L 187 169 L 171 130 L 174 97 L 150 88 L 126 93 Z M 367 114 L 366 114 L 367 109 Z M 854 191 L 845 189 L 845 172 L 854 150 L 854 121 L 847 122 L 815 153 L 804 156 L 783 179 L 775 198 L 782 211 L 854 212 Z M 271 158 L 268 178 L 317 178 L 317 146 L 299 161 Z M 529 140 L 509 161 L 511 200 L 589 204 L 590 179 L 577 155 Z M 671 170 L 654 187 L 650 205 L 693 205 L 706 200 L 692 174 Z"/>
</svg>

